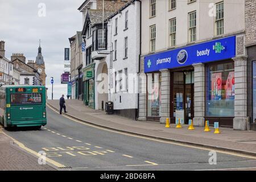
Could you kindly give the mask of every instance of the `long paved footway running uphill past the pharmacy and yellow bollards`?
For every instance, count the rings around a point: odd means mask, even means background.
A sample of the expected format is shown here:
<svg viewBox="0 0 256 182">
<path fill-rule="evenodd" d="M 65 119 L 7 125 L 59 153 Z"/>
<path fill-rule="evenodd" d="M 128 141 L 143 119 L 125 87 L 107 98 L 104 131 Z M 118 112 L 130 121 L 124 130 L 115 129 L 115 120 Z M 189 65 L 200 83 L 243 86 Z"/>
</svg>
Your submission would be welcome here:
<svg viewBox="0 0 256 182">
<path fill-rule="evenodd" d="M 59 100 L 47 100 L 47 104 L 59 110 Z M 82 101 L 66 100 L 66 106 L 68 113 L 64 115 L 106 129 L 256 156 L 255 131 L 220 128 L 221 134 L 213 134 L 213 127 L 210 127 L 212 131 L 207 133 L 204 132 L 203 127 L 195 127 L 195 130 L 192 131 L 187 130 L 187 125 L 183 125 L 182 129 L 176 129 L 175 125 L 166 128 L 165 125 L 158 122 L 135 121 L 119 115 L 108 115 L 105 114 L 105 111 L 90 109 Z"/>
</svg>

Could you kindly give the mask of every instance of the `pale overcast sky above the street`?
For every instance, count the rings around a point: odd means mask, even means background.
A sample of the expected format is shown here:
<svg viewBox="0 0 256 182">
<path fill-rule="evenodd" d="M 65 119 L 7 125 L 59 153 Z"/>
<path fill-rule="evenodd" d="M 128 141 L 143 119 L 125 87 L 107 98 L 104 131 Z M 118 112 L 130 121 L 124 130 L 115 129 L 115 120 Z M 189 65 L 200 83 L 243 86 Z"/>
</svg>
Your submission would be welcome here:
<svg viewBox="0 0 256 182">
<path fill-rule="evenodd" d="M 64 48 L 69 47 L 68 38 L 82 29 L 82 13 L 77 9 L 83 2 L 0 0 L 0 40 L 5 41 L 6 57 L 10 59 L 12 53 L 24 53 L 26 60 L 35 60 L 41 39 L 49 98 L 51 77 L 55 81 L 53 98 L 67 95 L 67 85 L 60 84 L 60 75 L 64 72 Z"/>
</svg>

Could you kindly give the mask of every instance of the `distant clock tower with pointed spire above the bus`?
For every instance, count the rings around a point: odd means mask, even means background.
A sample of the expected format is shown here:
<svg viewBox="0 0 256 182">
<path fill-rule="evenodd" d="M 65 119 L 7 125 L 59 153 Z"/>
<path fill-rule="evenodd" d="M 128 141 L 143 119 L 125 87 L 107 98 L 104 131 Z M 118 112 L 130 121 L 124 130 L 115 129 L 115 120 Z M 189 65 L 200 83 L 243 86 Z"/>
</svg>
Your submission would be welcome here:
<svg viewBox="0 0 256 182">
<path fill-rule="evenodd" d="M 42 85 L 46 86 L 46 67 L 44 65 L 44 57 L 42 55 L 40 40 L 39 40 L 38 56 L 36 56 L 35 68 L 40 73 L 40 80 L 42 80 Z"/>
</svg>

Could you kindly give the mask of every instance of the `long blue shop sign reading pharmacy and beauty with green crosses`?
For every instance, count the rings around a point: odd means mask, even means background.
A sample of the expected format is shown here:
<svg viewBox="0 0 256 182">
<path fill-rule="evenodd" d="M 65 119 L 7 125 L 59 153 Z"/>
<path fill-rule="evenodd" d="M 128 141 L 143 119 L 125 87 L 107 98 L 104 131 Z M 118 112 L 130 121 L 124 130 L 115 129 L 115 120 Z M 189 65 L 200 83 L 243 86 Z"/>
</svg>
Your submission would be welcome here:
<svg viewBox="0 0 256 182">
<path fill-rule="evenodd" d="M 236 36 L 145 56 L 144 72 L 185 67 L 232 57 L 236 57 Z"/>
</svg>

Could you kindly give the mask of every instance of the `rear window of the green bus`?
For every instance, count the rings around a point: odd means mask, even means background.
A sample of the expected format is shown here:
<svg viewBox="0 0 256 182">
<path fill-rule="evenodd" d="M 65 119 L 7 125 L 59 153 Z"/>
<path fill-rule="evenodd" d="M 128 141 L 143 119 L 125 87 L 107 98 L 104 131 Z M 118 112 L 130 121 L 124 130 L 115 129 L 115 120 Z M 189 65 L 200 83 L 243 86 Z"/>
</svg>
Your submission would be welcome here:
<svg viewBox="0 0 256 182">
<path fill-rule="evenodd" d="M 11 104 L 41 104 L 42 93 L 16 93 L 11 94 Z"/>
</svg>

